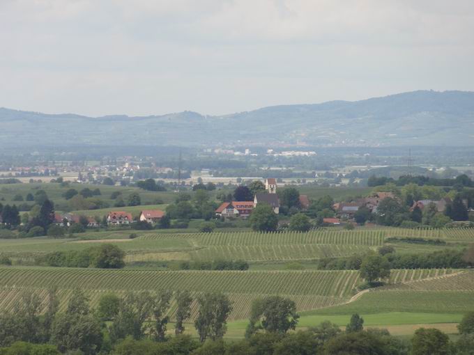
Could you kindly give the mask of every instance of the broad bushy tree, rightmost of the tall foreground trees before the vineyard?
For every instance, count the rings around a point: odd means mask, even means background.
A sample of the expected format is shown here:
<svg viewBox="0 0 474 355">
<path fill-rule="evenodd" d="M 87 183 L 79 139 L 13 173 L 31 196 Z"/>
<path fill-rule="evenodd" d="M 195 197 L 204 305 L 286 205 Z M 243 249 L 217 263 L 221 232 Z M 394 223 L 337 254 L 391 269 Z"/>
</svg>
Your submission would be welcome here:
<svg viewBox="0 0 474 355">
<path fill-rule="evenodd" d="M 280 296 L 270 296 L 252 302 L 250 323 L 245 333 L 249 337 L 258 329 L 270 333 L 286 333 L 295 329 L 300 316 L 296 313 L 296 303 Z"/>
</svg>

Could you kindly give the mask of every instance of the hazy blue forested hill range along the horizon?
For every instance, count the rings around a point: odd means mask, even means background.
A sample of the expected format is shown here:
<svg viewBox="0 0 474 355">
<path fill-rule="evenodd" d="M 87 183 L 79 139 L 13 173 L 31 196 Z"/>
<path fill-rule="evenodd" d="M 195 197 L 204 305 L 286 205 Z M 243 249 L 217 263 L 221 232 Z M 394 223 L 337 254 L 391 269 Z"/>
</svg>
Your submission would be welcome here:
<svg viewBox="0 0 474 355">
<path fill-rule="evenodd" d="M 104 116 L 0 109 L 0 149 L 61 145 L 474 145 L 474 92 L 414 91 L 357 102 Z M 21 143 L 21 147 L 19 145 Z"/>
</svg>

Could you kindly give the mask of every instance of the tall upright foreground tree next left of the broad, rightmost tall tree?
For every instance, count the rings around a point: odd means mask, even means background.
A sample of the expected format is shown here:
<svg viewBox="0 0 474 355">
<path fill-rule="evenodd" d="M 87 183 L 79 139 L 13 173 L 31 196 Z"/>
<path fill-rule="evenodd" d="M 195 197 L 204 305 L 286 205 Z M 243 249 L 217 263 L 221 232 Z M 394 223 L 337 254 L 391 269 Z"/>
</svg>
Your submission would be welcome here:
<svg viewBox="0 0 474 355">
<path fill-rule="evenodd" d="M 229 297 L 224 294 L 206 293 L 197 297 L 199 311 L 194 326 L 199 333 L 199 340 L 207 338 L 220 339 L 227 331 L 227 317 L 232 306 Z"/>
</svg>

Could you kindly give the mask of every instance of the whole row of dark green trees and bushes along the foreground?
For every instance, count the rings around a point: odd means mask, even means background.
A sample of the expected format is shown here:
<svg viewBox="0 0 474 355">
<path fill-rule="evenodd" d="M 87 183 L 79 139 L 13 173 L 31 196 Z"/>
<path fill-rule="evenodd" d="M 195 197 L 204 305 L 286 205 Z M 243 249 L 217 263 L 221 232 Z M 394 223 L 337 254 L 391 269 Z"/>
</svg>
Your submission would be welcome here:
<svg viewBox="0 0 474 355">
<path fill-rule="evenodd" d="M 176 299 L 174 337 L 167 335 L 172 297 Z M 252 303 L 245 339 L 223 342 L 232 309 L 223 294 L 197 297 L 197 342 L 183 336 L 192 301 L 186 291 L 105 294 L 91 309 L 84 293 L 75 290 L 66 312 L 59 313 L 56 290 L 49 290 L 46 311 L 40 316 L 39 297 L 24 292 L 15 313 L 0 314 L 0 347 L 4 347 L 0 354 L 467 355 L 474 349 L 474 313 L 461 320 L 457 342 L 438 329 L 418 329 L 411 340 L 394 338 L 385 329 L 365 330 L 358 314 L 352 315 L 345 331 L 323 322 L 288 333 L 296 329 L 299 316 L 293 301 L 278 296 Z"/>
</svg>

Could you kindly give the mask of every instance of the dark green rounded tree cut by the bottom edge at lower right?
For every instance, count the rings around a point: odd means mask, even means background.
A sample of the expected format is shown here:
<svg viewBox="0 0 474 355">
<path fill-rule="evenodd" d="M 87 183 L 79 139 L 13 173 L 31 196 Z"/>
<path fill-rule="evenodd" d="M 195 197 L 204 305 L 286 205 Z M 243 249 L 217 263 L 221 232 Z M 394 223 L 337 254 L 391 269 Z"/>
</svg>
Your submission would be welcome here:
<svg viewBox="0 0 474 355">
<path fill-rule="evenodd" d="M 413 355 L 448 355 L 450 354 L 450 338 L 434 328 L 420 328 L 411 338 Z"/>
</svg>

